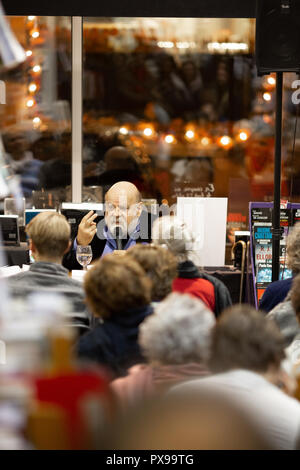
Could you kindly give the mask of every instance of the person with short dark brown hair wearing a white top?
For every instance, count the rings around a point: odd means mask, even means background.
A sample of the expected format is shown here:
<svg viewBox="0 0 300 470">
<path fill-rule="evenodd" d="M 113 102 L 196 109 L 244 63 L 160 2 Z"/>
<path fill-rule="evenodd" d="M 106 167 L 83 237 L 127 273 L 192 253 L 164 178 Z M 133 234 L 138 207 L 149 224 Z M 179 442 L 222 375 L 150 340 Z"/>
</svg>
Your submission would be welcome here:
<svg viewBox="0 0 300 470">
<path fill-rule="evenodd" d="M 295 449 L 300 404 L 284 393 L 284 339 L 276 325 L 247 305 L 223 312 L 212 333 L 210 369 L 216 375 L 179 385 L 174 393 L 207 390 L 226 396 L 258 425 L 276 449 Z"/>
</svg>

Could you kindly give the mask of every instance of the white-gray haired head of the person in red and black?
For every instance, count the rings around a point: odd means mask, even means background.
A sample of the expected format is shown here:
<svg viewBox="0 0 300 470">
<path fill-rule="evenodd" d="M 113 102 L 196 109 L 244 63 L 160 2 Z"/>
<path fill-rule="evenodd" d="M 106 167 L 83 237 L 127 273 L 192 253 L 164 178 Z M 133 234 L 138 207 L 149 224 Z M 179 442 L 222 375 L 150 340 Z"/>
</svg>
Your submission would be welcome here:
<svg viewBox="0 0 300 470">
<path fill-rule="evenodd" d="M 155 245 L 166 245 L 179 261 L 188 259 L 195 242 L 194 235 L 176 216 L 163 216 L 155 220 L 152 227 Z"/>
</svg>

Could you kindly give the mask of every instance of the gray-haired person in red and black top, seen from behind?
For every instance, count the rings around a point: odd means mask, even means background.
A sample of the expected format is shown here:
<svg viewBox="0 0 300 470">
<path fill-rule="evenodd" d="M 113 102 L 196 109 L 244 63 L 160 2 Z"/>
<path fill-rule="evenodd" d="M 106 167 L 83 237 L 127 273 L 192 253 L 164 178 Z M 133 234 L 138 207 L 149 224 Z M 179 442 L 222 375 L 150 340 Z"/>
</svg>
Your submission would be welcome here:
<svg viewBox="0 0 300 470">
<path fill-rule="evenodd" d="M 227 287 L 196 267 L 193 262 L 195 237 L 178 217 L 156 219 L 152 227 L 152 241 L 156 245 L 166 246 L 177 257 L 178 277 L 173 282 L 173 291 L 199 298 L 216 316 L 232 304 Z"/>
</svg>

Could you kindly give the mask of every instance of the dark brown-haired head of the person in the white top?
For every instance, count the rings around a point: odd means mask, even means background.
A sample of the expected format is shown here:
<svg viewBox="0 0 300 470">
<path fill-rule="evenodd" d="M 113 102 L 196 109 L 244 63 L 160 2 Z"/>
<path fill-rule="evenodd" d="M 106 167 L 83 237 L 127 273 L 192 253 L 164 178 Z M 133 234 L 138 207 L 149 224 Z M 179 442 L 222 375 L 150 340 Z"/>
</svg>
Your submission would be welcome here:
<svg viewBox="0 0 300 470">
<path fill-rule="evenodd" d="M 279 367 L 284 347 L 284 338 L 272 320 L 249 305 L 235 305 L 222 313 L 213 329 L 209 366 L 214 372 L 246 369 L 265 373 Z"/>
</svg>

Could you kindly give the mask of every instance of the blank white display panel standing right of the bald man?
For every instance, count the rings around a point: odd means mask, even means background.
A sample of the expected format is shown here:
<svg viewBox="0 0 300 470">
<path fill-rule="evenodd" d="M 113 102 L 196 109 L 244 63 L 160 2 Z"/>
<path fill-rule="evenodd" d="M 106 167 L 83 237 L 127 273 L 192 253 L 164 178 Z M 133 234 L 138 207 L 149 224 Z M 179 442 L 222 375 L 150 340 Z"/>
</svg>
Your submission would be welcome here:
<svg viewBox="0 0 300 470">
<path fill-rule="evenodd" d="M 227 198 L 178 197 L 177 216 L 196 237 L 193 251 L 200 266 L 224 266 Z"/>
</svg>

